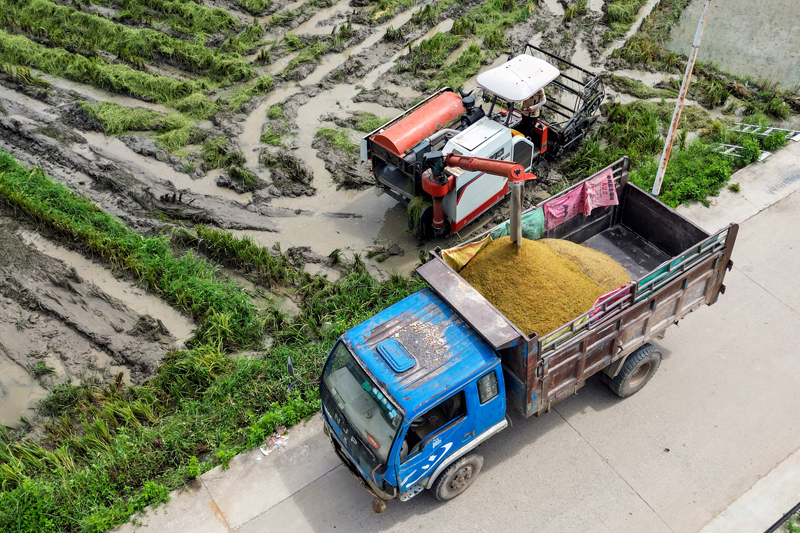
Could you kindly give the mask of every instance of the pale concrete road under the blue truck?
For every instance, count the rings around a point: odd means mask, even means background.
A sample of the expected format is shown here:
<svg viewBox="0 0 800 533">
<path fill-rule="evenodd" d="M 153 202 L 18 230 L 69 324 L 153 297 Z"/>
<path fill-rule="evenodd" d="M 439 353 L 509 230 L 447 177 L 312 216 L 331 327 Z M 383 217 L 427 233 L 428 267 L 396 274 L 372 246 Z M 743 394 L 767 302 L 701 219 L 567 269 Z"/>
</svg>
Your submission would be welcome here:
<svg viewBox="0 0 800 533">
<path fill-rule="evenodd" d="M 290 432 L 286 449 L 242 454 L 174 494 L 146 529 L 700 530 L 800 449 L 800 144 L 733 181 L 738 195 L 683 209 L 709 229 L 742 222 L 727 293 L 668 331 L 658 373 L 635 396 L 621 400 L 592 379 L 541 418 L 513 416 L 481 446 L 484 470 L 467 492 L 447 504 L 423 493 L 382 515 L 317 416 Z M 770 516 L 727 530 L 763 531 Z"/>
</svg>

